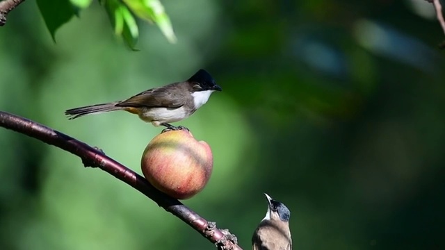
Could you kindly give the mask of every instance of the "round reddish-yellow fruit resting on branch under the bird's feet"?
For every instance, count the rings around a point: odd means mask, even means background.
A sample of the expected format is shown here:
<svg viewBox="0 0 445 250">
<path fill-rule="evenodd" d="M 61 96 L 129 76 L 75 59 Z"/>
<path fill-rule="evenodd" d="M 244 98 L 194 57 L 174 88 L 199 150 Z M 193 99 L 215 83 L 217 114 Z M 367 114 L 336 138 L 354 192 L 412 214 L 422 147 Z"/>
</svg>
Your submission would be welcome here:
<svg viewBox="0 0 445 250">
<path fill-rule="evenodd" d="M 141 167 L 155 188 L 175 199 L 189 199 L 209 181 L 213 154 L 209 144 L 197 141 L 190 131 L 167 131 L 149 142 Z"/>
</svg>

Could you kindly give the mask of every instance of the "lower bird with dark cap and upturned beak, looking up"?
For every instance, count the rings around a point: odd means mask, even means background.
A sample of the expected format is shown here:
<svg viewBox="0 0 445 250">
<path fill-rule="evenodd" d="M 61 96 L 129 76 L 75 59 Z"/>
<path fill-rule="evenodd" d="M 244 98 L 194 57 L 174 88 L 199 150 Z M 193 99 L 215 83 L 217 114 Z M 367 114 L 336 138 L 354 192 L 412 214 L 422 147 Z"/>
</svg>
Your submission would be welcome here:
<svg viewBox="0 0 445 250">
<path fill-rule="evenodd" d="M 267 213 L 253 233 L 252 250 L 291 250 L 291 211 L 280 201 L 264 195 L 268 201 Z"/>
</svg>

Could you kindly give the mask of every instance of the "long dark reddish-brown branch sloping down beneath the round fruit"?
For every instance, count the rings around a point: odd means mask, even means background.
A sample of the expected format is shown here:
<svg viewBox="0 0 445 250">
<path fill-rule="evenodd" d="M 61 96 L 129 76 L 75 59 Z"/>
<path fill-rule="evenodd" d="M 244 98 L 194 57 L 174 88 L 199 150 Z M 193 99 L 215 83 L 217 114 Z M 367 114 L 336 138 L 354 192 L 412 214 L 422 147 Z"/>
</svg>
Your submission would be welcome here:
<svg viewBox="0 0 445 250">
<path fill-rule="evenodd" d="M 159 190 L 156 190 L 145 178 L 112 158 L 105 156 L 102 151 L 94 149 L 79 140 L 48 128 L 47 126 L 3 111 L 0 111 L 0 126 L 29 135 L 32 138 L 73 153 L 82 159 L 86 167 L 99 167 L 120 181 L 131 185 L 131 187 L 158 203 L 159 206 L 183 222 L 186 222 L 186 224 L 201 233 L 210 242 L 216 244 L 218 249 L 242 250 L 236 242 L 236 237 L 230 234 L 229 231 L 217 228 L 214 222 L 207 222 L 207 220 L 197 215 L 197 213 L 193 212 L 193 210 L 186 207 L 177 199 L 172 199 Z"/>
</svg>

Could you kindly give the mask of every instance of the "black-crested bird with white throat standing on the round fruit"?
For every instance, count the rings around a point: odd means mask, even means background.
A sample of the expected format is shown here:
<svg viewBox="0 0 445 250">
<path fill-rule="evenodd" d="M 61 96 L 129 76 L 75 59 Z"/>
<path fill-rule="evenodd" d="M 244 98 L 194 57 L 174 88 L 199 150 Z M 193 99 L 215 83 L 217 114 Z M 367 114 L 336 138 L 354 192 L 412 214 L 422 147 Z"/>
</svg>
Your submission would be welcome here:
<svg viewBox="0 0 445 250">
<path fill-rule="evenodd" d="M 221 90 L 213 77 L 204 69 L 200 69 L 187 81 L 152 88 L 124 101 L 72 108 L 66 110 L 65 115 L 69 119 L 75 119 L 83 115 L 125 110 L 154 126 L 177 130 L 184 127 L 172 126 L 170 122 L 179 122 L 191 116 L 209 100 L 212 92 Z"/>
</svg>

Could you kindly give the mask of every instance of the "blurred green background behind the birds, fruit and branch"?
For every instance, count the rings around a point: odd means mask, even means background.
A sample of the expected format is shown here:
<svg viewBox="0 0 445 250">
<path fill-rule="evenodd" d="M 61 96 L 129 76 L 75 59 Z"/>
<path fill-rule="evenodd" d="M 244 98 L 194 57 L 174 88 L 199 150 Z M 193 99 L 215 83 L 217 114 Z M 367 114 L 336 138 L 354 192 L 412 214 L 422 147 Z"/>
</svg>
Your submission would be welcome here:
<svg viewBox="0 0 445 250">
<path fill-rule="evenodd" d="M 140 173 L 161 131 L 129 113 L 69 121 L 207 69 L 223 92 L 181 122 L 213 149 L 184 201 L 250 249 L 267 192 L 293 249 L 444 249 L 444 34 L 407 1 L 163 1 L 178 38 L 140 23 L 140 51 L 94 3 L 56 33 L 34 1 L 0 28 L 0 109 Z M 214 249 L 156 203 L 70 153 L 0 129 L 0 249 Z"/>
</svg>

